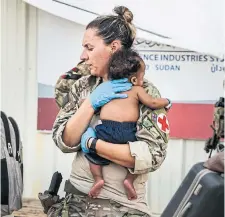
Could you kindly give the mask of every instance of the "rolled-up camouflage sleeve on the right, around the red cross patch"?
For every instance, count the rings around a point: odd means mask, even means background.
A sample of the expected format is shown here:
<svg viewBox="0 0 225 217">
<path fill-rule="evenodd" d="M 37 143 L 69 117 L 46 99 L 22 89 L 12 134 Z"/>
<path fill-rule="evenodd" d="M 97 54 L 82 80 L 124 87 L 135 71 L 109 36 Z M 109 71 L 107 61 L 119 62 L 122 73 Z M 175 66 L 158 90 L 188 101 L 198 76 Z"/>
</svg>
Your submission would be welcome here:
<svg viewBox="0 0 225 217">
<path fill-rule="evenodd" d="M 148 83 L 146 91 L 153 97 L 160 97 L 158 90 L 151 83 Z M 157 170 L 166 158 L 169 138 L 168 132 L 163 132 L 157 125 L 158 116 L 166 117 L 165 109 L 151 110 L 141 105 L 140 112 L 136 133 L 138 141 L 129 142 L 131 155 L 135 158 L 134 168 L 129 169 L 132 174 L 144 174 Z"/>
</svg>

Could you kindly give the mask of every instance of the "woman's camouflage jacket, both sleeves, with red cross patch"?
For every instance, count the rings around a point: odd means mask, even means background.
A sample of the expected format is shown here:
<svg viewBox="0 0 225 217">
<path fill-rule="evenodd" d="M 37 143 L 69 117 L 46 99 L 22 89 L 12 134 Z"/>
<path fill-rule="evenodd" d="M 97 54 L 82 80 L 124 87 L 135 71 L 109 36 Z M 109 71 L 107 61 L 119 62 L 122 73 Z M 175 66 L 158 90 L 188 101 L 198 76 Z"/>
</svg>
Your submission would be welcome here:
<svg viewBox="0 0 225 217">
<path fill-rule="evenodd" d="M 101 83 L 100 78 L 88 74 L 84 64 L 80 63 L 61 76 L 56 84 L 55 98 L 61 110 L 53 126 L 53 140 L 63 152 L 80 150 L 80 145 L 67 147 L 62 141 L 62 132 L 68 119 L 79 108 L 82 99 Z M 144 88 L 153 97 L 160 97 L 158 89 L 152 83 L 145 81 Z M 130 172 L 143 174 L 155 171 L 166 157 L 170 129 L 165 109 L 151 110 L 140 105 L 137 129 L 138 141 L 129 142 L 131 155 L 135 156 L 135 168 Z"/>
</svg>

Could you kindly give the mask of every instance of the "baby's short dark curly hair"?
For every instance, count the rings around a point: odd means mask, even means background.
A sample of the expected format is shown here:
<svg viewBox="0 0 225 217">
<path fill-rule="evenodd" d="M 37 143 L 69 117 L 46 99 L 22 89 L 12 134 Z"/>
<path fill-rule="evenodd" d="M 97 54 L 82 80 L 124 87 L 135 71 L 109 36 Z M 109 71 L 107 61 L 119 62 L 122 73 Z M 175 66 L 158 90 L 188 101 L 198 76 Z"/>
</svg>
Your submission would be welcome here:
<svg viewBox="0 0 225 217">
<path fill-rule="evenodd" d="M 141 67 L 142 58 L 132 49 L 120 49 L 109 60 L 108 79 L 129 78 Z"/>
</svg>

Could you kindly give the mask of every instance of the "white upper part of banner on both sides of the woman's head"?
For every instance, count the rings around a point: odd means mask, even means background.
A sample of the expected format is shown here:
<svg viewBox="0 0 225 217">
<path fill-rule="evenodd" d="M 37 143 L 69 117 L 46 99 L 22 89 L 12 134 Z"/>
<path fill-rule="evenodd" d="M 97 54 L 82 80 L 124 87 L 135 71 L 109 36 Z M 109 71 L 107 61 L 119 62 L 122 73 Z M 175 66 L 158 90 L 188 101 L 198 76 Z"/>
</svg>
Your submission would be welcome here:
<svg viewBox="0 0 225 217">
<path fill-rule="evenodd" d="M 43 11 L 38 14 L 38 82 L 48 85 L 39 92 L 54 97 L 58 77 L 79 61 L 84 26 Z M 139 39 L 135 47 L 146 62 L 146 78 L 164 97 L 206 102 L 223 96 L 224 60 Z"/>
</svg>

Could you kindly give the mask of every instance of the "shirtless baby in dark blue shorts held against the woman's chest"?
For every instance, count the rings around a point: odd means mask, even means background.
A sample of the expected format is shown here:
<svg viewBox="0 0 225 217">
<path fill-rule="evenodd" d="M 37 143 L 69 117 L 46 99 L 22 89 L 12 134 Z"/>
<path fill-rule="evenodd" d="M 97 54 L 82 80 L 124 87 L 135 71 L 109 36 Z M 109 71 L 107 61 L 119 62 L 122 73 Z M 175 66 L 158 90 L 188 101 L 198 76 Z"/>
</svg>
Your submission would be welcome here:
<svg viewBox="0 0 225 217">
<path fill-rule="evenodd" d="M 135 134 L 139 118 L 139 103 L 151 109 L 168 107 L 171 103 L 168 99 L 153 98 L 146 93 L 142 87 L 145 63 L 134 50 L 123 49 L 115 52 L 109 61 L 108 71 L 109 80 L 128 78 L 133 87 L 131 90 L 124 92 L 127 94 L 127 98 L 114 99 L 101 108 L 100 119 L 102 124 L 95 128 L 97 138 L 114 144 L 127 144 L 137 141 Z M 97 154 L 86 154 L 85 156 L 90 162 L 90 170 L 95 180 L 89 196 L 95 198 L 104 185 L 102 166 L 108 165 L 110 161 Z M 137 175 L 128 171 L 123 182 L 129 200 L 137 198 L 133 186 L 136 177 Z"/>
</svg>

